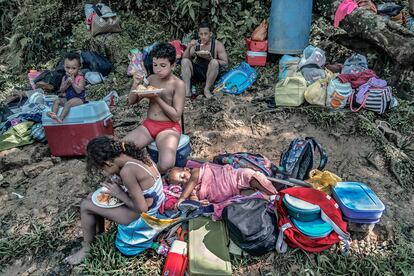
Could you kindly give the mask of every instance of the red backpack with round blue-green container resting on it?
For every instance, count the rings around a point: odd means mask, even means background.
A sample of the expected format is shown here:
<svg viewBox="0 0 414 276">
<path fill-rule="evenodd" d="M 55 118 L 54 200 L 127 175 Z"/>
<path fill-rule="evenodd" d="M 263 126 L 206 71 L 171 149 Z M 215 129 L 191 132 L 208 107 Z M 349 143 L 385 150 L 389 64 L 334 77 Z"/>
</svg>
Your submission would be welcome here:
<svg viewBox="0 0 414 276">
<path fill-rule="evenodd" d="M 328 222 L 333 231 L 323 238 L 310 238 L 300 232 L 289 219 L 286 207 L 282 202 L 285 194 L 318 205 L 321 208 L 321 219 Z M 312 188 L 294 187 L 280 191 L 275 204 L 279 217 L 279 236 L 276 244 L 276 250 L 279 253 L 285 253 L 287 245 L 292 248 L 300 247 L 309 252 L 321 252 L 340 240 L 345 243 L 345 251 L 349 248 L 350 236 L 346 231 L 346 222 L 342 220 L 341 210 L 331 196 Z"/>
</svg>

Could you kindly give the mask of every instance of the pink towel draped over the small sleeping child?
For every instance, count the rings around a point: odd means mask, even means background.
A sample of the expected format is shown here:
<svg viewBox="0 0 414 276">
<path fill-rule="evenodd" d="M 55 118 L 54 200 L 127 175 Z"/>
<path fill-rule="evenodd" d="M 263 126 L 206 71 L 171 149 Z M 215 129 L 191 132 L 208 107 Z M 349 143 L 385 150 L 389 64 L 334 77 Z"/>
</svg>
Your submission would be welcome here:
<svg viewBox="0 0 414 276">
<path fill-rule="evenodd" d="M 250 188 L 250 180 L 255 178 L 272 194 L 276 189 L 267 178 L 252 169 L 234 169 L 230 165 L 205 163 L 200 168 L 196 194 L 199 200 L 207 199 L 210 203 L 220 203 L 233 196 L 240 195 L 240 191 Z"/>
</svg>

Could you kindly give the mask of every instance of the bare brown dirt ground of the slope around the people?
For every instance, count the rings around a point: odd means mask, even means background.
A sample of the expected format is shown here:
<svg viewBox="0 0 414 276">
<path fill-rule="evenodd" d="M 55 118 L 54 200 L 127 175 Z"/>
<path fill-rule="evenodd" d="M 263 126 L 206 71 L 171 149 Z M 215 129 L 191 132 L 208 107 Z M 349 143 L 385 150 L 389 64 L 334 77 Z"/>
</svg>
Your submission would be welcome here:
<svg viewBox="0 0 414 276">
<path fill-rule="evenodd" d="M 277 164 L 294 137 L 315 137 L 328 153 L 327 170 L 345 180 L 367 183 L 386 206 L 381 222 L 365 242 L 378 248 L 398 237 L 412 245 L 414 197 L 389 172 L 373 140 L 355 131 L 357 115 L 330 114 L 338 123 L 327 127 L 310 120 L 306 107 L 270 110 L 266 100 L 271 95 L 268 89 L 187 100 L 185 131 L 191 137 L 191 157 L 211 160 L 224 151 L 249 151 L 262 153 Z M 116 135 L 123 137 L 135 128 L 144 111 L 145 105 L 125 107 L 121 100 L 112 109 Z M 340 120 L 343 116 L 345 120 Z M 48 146 L 40 143 L 0 153 L 0 233 L 17 241 L 0 249 L 11 252 L 3 260 L 8 264 L 4 275 L 75 273 L 62 260 L 80 245 L 79 202 L 96 189 L 99 180 L 84 168 L 83 158 L 53 157 Z M 353 238 L 364 237 L 354 233 Z M 356 252 L 358 246 L 354 242 Z"/>
</svg>

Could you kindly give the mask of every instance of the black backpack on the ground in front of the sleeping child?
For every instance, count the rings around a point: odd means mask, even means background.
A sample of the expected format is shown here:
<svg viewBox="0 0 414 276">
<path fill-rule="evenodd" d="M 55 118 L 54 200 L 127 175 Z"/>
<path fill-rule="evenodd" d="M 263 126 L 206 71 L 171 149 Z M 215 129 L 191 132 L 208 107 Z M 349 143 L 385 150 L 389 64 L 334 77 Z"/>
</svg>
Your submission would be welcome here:
<svg viewBox="0 0 414 276">
<path fill-rule="evenodd" d="M 233 203 L 223 210 L 230 239 L 253 256 L 274 251 L 277 239 L 276 214 L 264 199 Z"/>
</svg>

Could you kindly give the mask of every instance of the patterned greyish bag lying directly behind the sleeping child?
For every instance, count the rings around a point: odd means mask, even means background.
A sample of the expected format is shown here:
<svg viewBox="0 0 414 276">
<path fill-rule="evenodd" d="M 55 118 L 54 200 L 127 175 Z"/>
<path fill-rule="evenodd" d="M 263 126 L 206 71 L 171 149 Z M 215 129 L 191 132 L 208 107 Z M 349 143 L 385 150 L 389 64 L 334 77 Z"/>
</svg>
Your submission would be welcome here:
<svg viewBox="0 0 414 276">
<path fill-rule="evenodd" d="M 219 165 L 229 164 L 235 169 L 249 168 L 266 176 L 272 176 L 272 169 L 274 168 L 272 162 L 263 155 L 249 152 L 219 154 L 214 156 L 213 163 Z"/>
</svg>

